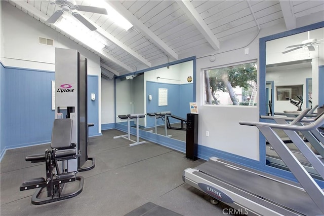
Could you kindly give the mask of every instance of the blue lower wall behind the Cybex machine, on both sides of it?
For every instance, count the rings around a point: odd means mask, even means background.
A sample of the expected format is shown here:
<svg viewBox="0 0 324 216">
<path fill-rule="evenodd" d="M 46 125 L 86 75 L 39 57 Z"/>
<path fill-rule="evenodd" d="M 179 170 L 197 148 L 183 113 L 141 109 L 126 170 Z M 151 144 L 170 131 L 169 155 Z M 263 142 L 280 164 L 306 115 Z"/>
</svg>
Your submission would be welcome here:
<svg viewBox="0 0 324 216">
<path fill-rule="evenodd" d="M 50 142 L 55 118 L 52 80 L 53 71 L 1 65 L 1 158 L 6 149 Z M 89 135 L 98 134 L 98 117 L 98 76 L 88 76 L 88 122 L 95 124 Z"/>
</svg>

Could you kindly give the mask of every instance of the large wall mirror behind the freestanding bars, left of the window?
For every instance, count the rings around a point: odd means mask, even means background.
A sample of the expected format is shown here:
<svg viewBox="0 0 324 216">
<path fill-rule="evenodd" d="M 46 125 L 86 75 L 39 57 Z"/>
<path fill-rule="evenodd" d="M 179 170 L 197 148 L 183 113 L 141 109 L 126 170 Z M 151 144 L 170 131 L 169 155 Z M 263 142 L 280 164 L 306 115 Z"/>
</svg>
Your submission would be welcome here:
<svg viewBox="0 0 324 216">
<path fill-rule="evenodd" d="M 139 119 L 140 130 L 151 131 L 157 136 L 165 136 L 186 141 L 185 120 L 190 113 L 189 102 L 194 102 L 194 60 L 170 63 L 154 69 L 139 71 L 134 75 L 115 78 L 116 124 L 127 124 L 119 115 L 146 114 Z M 156 118 L 147 114 L 170 112 L 168 126 L 166 118 Z M 135 127 L 136 121 L 131 122 Z"/>
</svg>

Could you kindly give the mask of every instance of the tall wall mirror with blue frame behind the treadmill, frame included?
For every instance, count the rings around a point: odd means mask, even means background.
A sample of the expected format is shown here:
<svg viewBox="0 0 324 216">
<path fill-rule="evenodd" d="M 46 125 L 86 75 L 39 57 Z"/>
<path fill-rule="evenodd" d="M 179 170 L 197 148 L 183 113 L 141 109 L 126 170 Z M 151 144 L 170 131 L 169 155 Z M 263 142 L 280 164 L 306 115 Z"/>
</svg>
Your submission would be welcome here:
<svg viewBox="0 0 324 216">
<path fill-rule="evenodd" d="M 323 26 L 324 22 L 316 23 L 260 39 L 260 115 L 297 113 L 307 107 L 323 105 L 321 92 L 324 91 L 324 84 L 320 80 L 324 73 L 321 69 L 324 65 Z M 306 170 L 320 179 L 316 170 L 308 165 L 309 162 L 298 154 L 298 149 L 284 131 L 276 132 L 295 152 Z M 309 147 L 319 157 L 323 156 L 312 146 Z M 262 135 L 260 158 L 267 165 L 288 169 Z"/>
</svg>

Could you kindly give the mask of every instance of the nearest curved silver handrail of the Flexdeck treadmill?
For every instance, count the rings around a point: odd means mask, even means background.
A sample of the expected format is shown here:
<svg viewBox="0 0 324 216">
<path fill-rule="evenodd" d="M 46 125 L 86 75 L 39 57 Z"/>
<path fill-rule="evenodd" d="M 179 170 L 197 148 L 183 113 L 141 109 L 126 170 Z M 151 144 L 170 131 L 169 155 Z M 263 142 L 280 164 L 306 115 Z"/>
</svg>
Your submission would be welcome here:
<svg viewBox="0 0 324 216">
<path fill-rule="evenodd" d="M 247 122 L 239 121 L 240 125 L 249 125 L 249 126 L 266 126 L 270 128 L 277 128 L 282 130 L 295 130 L 295 131 L 310 131 L 314 130 L 324 124 L 324 115 L 321 115 L 314 122 L 308 125 L 284 125 L 284 124 L 275 124 L 275 123 L 266 123 L 266 122 Z"/>
</svg>

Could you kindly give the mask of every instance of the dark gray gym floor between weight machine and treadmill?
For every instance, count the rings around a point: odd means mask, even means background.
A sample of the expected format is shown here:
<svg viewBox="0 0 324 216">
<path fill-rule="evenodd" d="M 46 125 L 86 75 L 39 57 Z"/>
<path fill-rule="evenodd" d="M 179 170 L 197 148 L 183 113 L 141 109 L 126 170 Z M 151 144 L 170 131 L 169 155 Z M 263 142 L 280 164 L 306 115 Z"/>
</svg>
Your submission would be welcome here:
<svg viewBox="0 0 324 216">
<path fill-rule="evenodd" d="M 49 145 L 8 150 L 0 163 L 1 215 L 124 215 L 152 202 L 183 215 L 223 215 L 224 204 L 182 181 L 182 172 L 204 160 L 190 161 L 183 153 L 146 142 L 129 147 L 130 141 L 113 136 L 118 130 L 91 137 L 88 156 L 94 169 L 80 172 L 83 192 L 76 197 L 45 205 L 31 204 L 34 190 L 19 191 L 23 181 L 45 177 L 45 163 L 30 163 L 25 156 L 45 152 Z M 228 211 L 224 211 L 227 213 Z"/>
</svg>

